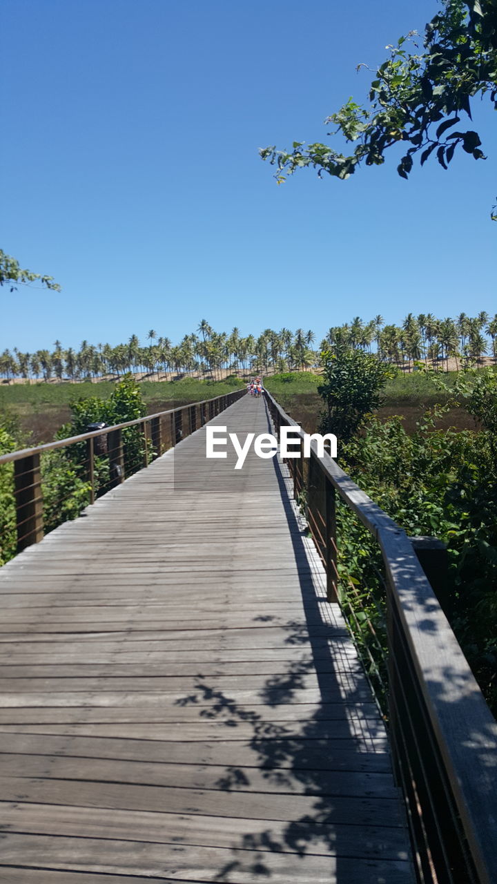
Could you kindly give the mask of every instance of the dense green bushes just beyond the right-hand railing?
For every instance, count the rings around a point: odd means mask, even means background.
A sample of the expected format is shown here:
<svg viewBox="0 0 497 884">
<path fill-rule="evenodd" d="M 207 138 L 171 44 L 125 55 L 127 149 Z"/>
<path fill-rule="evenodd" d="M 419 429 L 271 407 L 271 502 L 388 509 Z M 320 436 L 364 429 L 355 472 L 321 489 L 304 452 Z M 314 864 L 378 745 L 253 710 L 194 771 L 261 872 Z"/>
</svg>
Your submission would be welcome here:
<svg viewBox="0 0 497 884">
<path fill-rule="evenodd" d="M 489 406 L 492 408 L 492 406 Z M 408 435 L 400 418 L 373 420 L 343 450 L 345 469 L 409 536 L 447 544 L 449 617 L 497 711 L 497 469 L 489 431 L 433 431 L 433 414 Z M 339 507 L 340 567 L 381 602 L 378 546 Z M 357 550 L 363 550 L 363 557 Z M 375 568 L 371 571 L 371 562 Z"/>
</svg>

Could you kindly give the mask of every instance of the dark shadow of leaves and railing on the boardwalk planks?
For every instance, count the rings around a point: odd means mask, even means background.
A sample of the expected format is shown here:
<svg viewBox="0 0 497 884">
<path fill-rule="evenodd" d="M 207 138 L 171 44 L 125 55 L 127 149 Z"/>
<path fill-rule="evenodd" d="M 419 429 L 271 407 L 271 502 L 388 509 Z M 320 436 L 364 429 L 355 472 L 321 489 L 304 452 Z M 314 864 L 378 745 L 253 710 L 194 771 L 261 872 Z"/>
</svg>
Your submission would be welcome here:
<svg viewBox="0 0 497 884">
<path fill-rule="evenodd" d="M 372 706 L 363 673 L 355 666 L 352 671 L 340 671 L 340 662 L 337 666 L 340 652 L 333 652 L 333 640 L 343 643 L 343 626 L 323 619 L 325 597 L 317 595 L 314 588 L 302 529 L 279 462 L 275 458 L 273 463 L 291 532 L 305 614 L 305 622 L 287 622 L 286 644 L 300 645 L 309 653 L 301 660 L 283 664 L 281 674 L 267 677 L 259 692 L 260 713 L 218 690 L 202 674 L 196 679 L 195 690 L 176 702 L 180 706 L 198 705 L 201 718 L 222 721 L 232 738 L 239 725 L 243 724 L 244 730 L 248 725 L 253 766 L 259 776 L 262 773 L 267 791 L 286 794 L 290 803 L 297 795 L 313 800 L 307 812 L 293 814 L 294 819 L 279 825 L 277 831 L 269 820 L 267 827 L 248 830 L 233 842 L 233 859 L 214 880 L 231 882 L 252 876 L 250 880 L 269 881 L 274 869 L 269 855 L 283 852 L 294 854 L 296 863 L 302 862 L 302 873 L 305 857 L 323 857 L 324 865 L 329 864 L 330 881 L 410 881 L 407 835 L 393 786 L 383 724 Z M 271 617 L 262 615 L 260 620 L 271 621 Z M 317 677 L 321 696 L 314 714 L 299 720 L 298 728 L 295 723 L 289 728 L 285 721 L 264 719 L 264 706 L 298 704 L 299 691 L 312 675 Z M 346 705 L 347 712 L 337 721 L 340 705 Z M 230 792 L 260 789 L 252 785 L 251 772 L 251 766 L 226 765 L 216 786 Z M 352 871 L 355 857 L 356 873 Z"/>
</svg>

